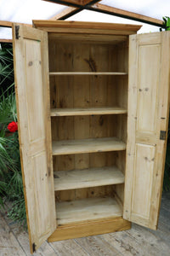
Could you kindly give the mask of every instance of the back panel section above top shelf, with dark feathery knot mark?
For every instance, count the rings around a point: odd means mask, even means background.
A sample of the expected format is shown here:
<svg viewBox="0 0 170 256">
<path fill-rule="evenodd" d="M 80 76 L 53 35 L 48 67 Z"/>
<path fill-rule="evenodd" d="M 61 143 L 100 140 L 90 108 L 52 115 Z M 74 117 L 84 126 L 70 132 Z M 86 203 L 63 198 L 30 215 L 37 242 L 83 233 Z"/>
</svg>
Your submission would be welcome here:
<svg viewBox="0 0 170 256">
<path fill-rule="evenodd" d="M 127 72 L 127 42 L 90 44 L 48 39 L 50 72 Z"/>
</svg>

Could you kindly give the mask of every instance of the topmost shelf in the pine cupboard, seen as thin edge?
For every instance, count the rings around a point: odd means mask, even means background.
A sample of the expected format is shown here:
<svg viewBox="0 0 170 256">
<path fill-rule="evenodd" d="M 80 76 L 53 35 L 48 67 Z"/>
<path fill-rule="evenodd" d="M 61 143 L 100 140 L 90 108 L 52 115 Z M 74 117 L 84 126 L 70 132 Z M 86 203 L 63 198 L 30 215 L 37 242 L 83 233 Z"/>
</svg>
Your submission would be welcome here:
<svg viewBox="0 0 170 256">
<path fill-rule="evenodd" d="M 126 72 L 49 72 L 50 76 L 75 76 L 75 75 L 105 75 L 105 76 L 112 76 L 112 75 L 127 75 Z"/>
</svg>

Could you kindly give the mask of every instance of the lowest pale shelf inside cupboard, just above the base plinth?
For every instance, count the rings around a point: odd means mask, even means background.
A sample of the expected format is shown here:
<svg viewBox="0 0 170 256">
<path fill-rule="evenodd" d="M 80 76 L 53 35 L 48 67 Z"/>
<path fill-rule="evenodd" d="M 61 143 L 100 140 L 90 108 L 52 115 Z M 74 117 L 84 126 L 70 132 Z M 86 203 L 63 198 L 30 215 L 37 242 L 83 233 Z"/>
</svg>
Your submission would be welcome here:
<svg viewBox="0 0 170 256">
<path fill-rule="evenodd" d="M 57 202 L 56 212 L 58 224 L 63 225 L 99 218 L 121 217 L 122 207 L 111 197 L 86 198 Z"/>
</svg>

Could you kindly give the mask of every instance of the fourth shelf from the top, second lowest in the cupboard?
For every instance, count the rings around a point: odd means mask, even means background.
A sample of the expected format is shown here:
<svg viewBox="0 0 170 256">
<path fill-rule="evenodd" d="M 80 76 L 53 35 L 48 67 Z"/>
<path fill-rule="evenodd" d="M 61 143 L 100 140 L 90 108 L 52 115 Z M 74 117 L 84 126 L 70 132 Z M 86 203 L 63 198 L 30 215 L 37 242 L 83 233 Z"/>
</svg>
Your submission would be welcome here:
<svg viewBox="0 0 170 256">
<path fill-rule="evenodd" d="M 54 190 L 82 189 L 124 183 L 116 166 L 54 172 Z"/>
</svg>

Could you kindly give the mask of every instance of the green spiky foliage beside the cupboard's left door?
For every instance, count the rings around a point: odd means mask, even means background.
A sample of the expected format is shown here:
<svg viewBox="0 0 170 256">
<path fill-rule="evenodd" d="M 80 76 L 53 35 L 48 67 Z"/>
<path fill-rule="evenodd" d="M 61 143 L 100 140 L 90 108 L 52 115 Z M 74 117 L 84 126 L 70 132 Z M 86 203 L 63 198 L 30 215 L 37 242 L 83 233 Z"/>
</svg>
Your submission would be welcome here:
<svg viewBox="0 0 170 256">
<path fill-rule="evenodd" d="M 11 44 L 3 44 L 0 49 L 0 207 L 11 201 L 8 217 L 26 224 L 18 131 L 7 129 L 10 122 L 17 122 L 13 70 Z"/>
</svg>

